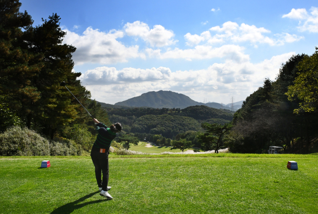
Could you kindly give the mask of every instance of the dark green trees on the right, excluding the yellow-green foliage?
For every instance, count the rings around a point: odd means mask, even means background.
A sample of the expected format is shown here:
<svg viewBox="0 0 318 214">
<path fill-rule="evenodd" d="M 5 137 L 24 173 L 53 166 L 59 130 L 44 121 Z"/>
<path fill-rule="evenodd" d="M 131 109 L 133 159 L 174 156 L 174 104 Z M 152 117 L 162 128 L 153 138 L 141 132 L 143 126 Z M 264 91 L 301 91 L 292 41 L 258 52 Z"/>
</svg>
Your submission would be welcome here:
<svg viewBox="0 0 318 214">
<path fill-rule="evenodd" d="M 317 114 L 302 111 L 294 114 L 301 102 L 297 96 L 288 101 L 287 92 L 306 72 L 300 65 L 308 56 L 292 56 L 279 70 L 276 81 L 266 79 L 263 87 L 248 96 L 235 113 L 234 128 L 225 143 L 231 152 L 264 153 L 269 146 L 282 146 L 285 152 L 301 152 L 295 140 L 300 138 L 311 152 L 311 139 L 317 137 Z M 303 65 L 303 64 L 302 64 Z"/>
</svg>

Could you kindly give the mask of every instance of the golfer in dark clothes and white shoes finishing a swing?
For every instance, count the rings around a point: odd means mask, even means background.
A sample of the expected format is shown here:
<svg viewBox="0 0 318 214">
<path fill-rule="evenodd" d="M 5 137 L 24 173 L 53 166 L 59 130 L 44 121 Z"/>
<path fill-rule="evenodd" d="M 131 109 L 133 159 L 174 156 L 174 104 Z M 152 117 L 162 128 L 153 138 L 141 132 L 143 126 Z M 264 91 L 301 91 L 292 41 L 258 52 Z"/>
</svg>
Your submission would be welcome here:
<svg viewBox="0 0 318 214">
<path fill-rule="evenodd" d="M 113 124 L 108 128 L 105 124 L 99 122 L 97 119 L 93 119 L 96 123 L 96 130 L 98 131 L 97 138 L 91 148 L 90 157 L 95 166 L 95 176 L 97 185 L 101 196 L 107 199 L 112 199 L 107 192 L 111 187 L 107 187 L 109 178 L 109 166 L 108 166 L 108 149 L 111 141 L 117 136 L 117 132 L 120 132 L 122 126 L 119 122 Z M 103 172 L 103 180 L 101 179 L 101 172 Z"/>
</svg>

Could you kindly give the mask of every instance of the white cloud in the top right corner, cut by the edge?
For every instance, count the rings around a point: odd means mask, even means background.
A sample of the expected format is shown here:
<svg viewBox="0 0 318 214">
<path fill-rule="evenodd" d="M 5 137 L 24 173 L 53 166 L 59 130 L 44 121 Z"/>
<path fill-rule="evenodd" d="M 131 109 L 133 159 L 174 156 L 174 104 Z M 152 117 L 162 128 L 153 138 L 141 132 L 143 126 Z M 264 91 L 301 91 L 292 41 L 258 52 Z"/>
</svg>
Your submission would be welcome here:
<svg viewBox="0 0 318 214">
<path fill-rule="evenodd" d="M 293 8 L 288 14 L 283 15 L 283 18 L 291 18 L 299 20 L 298 30 L 301 32 L 309 31 L 318 33 L 318 7 L 312 6 L 310 13 L 305 8 Z"/>
</svg>

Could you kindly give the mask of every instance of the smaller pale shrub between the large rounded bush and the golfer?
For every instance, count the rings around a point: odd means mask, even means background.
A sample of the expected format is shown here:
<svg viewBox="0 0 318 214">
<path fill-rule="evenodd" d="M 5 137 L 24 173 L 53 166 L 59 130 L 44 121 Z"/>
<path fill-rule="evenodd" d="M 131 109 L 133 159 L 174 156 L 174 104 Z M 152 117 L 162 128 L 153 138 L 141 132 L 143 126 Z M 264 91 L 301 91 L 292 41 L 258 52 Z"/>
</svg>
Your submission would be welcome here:
<svg viewBox="0 0 318 214">
<path fill-rule="evenodd" d="M 50 154 L 52 156 L 81 155 L 80 145 L 77 145 L 73 140 L 66 138 L 58 140 L 50 142 Z"/>
</svg>

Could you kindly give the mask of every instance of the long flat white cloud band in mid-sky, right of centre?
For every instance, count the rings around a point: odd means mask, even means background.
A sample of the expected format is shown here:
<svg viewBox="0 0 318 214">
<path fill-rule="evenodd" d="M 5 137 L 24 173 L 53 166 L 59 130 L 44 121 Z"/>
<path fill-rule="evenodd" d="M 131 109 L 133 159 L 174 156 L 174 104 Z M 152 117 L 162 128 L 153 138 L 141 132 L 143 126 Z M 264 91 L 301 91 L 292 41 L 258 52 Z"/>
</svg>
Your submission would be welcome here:
<svg viewBox="0 0 318 214">
<path fill-rule="evenodd" d="M 146 49 L 146 53 L 150 57 L 157 57 L 160 59 L 211 59 L 211 58 L 225 58 L 236 62 L 244 62 L 249 60 L 249 56 L 243 53 L 244 48 L 238 45 L 223 45 L 221 47 L 213 48 L 209 45 L 197 45 L 193 49 L 179 49 L 167 50 L 161 53 L 160 50 L 151 48 Z"/>
</svg>

